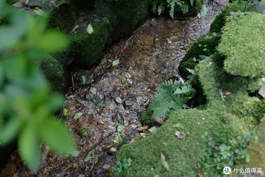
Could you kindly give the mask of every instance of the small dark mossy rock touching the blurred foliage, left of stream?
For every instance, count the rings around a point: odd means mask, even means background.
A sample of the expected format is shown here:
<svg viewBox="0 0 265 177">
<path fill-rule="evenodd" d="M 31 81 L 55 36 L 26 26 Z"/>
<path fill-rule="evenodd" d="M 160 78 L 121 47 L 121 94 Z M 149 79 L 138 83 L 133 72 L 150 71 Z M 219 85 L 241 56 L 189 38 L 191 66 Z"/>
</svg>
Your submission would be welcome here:
<svg viewBox="0 0 265 177">
<path fill-rule="evenodd" d="M 56 55 L 43 57 L 40 69 L 47 78 L 52 91 L 62 92 L 66 87 L 67 72 L 56 58 Z"/>
</svg>

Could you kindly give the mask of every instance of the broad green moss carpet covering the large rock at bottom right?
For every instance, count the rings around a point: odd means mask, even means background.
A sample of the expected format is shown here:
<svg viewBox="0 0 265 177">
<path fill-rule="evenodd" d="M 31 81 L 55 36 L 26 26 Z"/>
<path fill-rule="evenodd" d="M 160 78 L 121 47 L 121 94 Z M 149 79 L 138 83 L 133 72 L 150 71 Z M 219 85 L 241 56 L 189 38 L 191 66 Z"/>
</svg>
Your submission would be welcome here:
<svg viewBox="0 0 265 177">
<path fill-rule="evenodd" d="M 118 152 L 118 160 L 131 157 L 133 164 L 126 171 L 116 176 L 197 176 L 197 172 L 190 163 L 200 163 L 205 156 L 207 143 L 201 138 L 205 132 L 213 132 L 217 141 L 224 141 L 241 131 L 235 129 L 235 123 L 224 123 L 219 118 L 222 112 L 216 110 L 183 110 L 180 114 L 171 116 L 167 122 L 151 133 L 145 139 L 124 145 Z M 231 114 L 224 115 L 226 119 L 235 120 Z M 202 119 L 204 118 L 204 119 Z M 200 122 L 200 123 L 198 123 Z M 184 132 L 190 135 L 184 139 L 175 136 L 178 128 L 175 124 L 184 126 Z M 238 126 L 238 125 L 237 125 Z M 161 163 L 160 153 L 166 157 L 169 165 L 167 171 Z M 143 160 L 144 159 L 144 160 Z M 153 170 L 151 170 L 153 168 Z M 212 169 L 214 171 L 214 169 Z"/>
</svg>

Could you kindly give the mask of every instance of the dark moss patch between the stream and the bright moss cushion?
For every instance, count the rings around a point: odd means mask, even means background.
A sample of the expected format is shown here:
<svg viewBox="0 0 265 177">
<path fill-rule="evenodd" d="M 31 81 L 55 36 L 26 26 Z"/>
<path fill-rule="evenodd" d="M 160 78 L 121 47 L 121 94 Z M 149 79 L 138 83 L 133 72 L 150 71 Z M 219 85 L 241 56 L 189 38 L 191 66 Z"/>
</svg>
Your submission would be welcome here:
<svg viewBox="0 0 265 177">
<path fill-rule="evenodd" d="M 212 36 L 212 33 L 207 34 L 207 36 Z M 189 58 L 198 58 L 199 55 L 207 55 L 209 51 L 203 51 L 204 48 L 209 49 L 211 53 L 215 50 L 215 47 L 218 45 L 218 40 L 220 37 L 206 38 L 206 35 L 203 35 L 194 42 L 188 52 L 185 54 L 183 61 L 187 61 Z M 199 47 L 201 45 L 201 47 Z M 207 45 L 204 47 L 204 45 Z"/>
</svg>

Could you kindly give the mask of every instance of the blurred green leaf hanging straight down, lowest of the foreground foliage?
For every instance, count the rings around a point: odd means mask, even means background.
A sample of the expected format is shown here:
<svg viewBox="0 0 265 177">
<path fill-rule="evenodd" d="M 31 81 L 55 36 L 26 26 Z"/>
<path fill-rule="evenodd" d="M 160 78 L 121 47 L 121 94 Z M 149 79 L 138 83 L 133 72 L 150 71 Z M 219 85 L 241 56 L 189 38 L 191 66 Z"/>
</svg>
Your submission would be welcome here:
<svg viewBox="0 0 265 177">
<path fill-rule="evenodd" d="M 40 161 L 40 148 L 36 127 L 27 124 L 20 132 L 18 139 L 19 155 L 25 164 L 32 168 L 37 168 Z"/>
</svg>

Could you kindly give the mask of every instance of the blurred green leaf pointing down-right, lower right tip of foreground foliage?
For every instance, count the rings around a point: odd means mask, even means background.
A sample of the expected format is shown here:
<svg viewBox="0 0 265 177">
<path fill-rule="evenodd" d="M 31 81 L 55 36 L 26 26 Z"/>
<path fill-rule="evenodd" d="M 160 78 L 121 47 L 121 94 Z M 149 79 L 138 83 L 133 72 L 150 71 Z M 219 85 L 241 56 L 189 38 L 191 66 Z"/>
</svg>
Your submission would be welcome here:
<svg viewBox="0 0 265 177">
<path fill-rule="evenodd" d="M 39 125 L 39 131 L 52 149 L 70 153 L 73 147 L 70 133 L 57 120 L 47 118 Z"/>
</svg>

